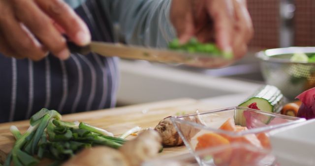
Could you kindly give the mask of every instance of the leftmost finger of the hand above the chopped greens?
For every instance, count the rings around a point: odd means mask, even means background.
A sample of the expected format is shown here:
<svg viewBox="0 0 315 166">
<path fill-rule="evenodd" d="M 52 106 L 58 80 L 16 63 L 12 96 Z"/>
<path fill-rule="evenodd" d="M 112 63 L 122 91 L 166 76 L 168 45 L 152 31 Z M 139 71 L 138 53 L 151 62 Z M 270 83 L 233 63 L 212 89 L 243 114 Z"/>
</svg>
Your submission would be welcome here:
<svg viewBox="0 0 315 166">
<path fill-rule="evenodd" d="M 190 0 L 173 0 L 170 19 L 181 43 L 186 43 L 194 35 L 194 22 Z"/>
</svg>

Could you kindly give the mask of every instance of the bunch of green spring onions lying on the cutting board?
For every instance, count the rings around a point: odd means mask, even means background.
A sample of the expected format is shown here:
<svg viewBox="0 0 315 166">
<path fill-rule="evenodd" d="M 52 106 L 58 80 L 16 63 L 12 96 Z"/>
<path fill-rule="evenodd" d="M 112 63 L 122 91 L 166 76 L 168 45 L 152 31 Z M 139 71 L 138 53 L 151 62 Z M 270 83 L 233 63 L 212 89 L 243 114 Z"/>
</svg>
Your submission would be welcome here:
<svg viewBox="0 0 315 166">
<path fill-rule="evenodd" d="M 54 110 L 42 109 L 30 120 L 29 129 L 22 135 L 11 126 L 10 131 L 16 138 L 12 151 L 8 154 L 4 166 L 35 166 L 39 160 L 47 157 L 62 162 L 85 147 L 105 145 L 119 148 L 124 138 L 83 122 L 65 122 Z"/>
</svg>

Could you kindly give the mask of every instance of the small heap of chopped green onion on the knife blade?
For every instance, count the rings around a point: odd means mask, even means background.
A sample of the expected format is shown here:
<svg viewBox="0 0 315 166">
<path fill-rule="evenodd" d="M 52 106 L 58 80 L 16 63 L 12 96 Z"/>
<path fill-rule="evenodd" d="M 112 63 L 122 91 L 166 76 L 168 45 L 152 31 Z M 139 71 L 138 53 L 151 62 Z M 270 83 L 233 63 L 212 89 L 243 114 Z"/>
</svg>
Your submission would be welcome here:
<svg viewBox="0 0 315 166">
<path fill-rule="evenodd" d="M 196 38 L 191 38 L 186 44 L 180 44 L 178 39 L 174 39 L 168 44 L 171 50 L 186 51 L 188 53 L 205 53 L 211 55 L 222 55 L 226 59 L 233 58 L 232 53 L 221 52 L 221 50 L 211 43 L 201 43 Z"/>
</svg>

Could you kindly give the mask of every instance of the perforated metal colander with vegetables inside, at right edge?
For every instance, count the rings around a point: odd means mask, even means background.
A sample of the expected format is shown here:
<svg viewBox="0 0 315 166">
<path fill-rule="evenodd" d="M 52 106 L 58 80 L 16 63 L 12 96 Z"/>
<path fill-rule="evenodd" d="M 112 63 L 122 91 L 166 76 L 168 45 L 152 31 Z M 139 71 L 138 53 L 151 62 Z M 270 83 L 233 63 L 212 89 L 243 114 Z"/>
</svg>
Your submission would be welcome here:
<svg viewBox="0 0 315 166">
<path fill-rule="evenodd" d="M 290 62 L 294 53 L 315 55 L 315 47 L 269 49 L 256 54 L 261 59 L 260 68 L 265 82 L 277 86 L 288 99 L 315 87 L 315 63 Z"/>
</svg>

